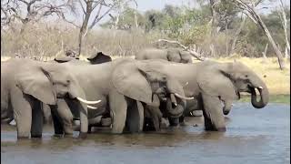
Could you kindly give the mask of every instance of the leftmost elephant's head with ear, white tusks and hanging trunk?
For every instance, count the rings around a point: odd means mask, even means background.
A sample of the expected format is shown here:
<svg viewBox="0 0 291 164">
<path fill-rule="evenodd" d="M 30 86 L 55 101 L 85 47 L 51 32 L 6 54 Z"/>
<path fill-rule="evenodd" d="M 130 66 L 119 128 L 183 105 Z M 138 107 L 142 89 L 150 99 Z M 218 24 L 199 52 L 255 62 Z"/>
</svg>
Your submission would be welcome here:
<svg viewBox="0 0 291 164">
<path fill-rule="evenodd" d="M 70 98 L 80 103 L 81 132 L 87 129 L 87 106 L 99 103 L 85 99 L 85 92 L 73 75 L 60 65 L 42 64 L 19 74 L 16 87 L 24 94 L 35 97 L 47 105 L 56 105 L 56 98 Z"/>
</svg>

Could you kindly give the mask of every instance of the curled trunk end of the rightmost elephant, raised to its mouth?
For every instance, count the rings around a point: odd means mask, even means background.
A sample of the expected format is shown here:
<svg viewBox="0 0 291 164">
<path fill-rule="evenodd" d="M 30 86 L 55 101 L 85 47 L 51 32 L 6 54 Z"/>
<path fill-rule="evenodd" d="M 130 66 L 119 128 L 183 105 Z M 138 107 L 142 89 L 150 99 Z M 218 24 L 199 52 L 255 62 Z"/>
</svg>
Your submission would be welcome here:
<svg viewBox="0 0 291 164">
<path fill-rule="evenodd" d="M 256 99 L 256 90 L 258 89 L 259 93 L 260 93 L 260 98 L 259 100 Z M 266 104 L 268 103 L 269 100 L 269 92 L 268 89 L 266 87 L 266 85 L 262 85 L 259 87 L 251 87 L 251 102 L 254 108 L 264 108 L 266 106 Z"/>
</svg>

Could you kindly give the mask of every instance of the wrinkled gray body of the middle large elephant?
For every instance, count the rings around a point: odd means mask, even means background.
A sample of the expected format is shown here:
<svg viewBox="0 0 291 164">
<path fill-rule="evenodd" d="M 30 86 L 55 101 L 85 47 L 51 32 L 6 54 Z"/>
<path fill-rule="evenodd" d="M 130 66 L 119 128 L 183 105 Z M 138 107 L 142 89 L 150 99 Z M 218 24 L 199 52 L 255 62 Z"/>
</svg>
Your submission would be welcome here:
<svg viewBox="0 0 291 164">
<path fill-rule="evenodd" d="M 144 71 L 136 67 L 135 60 L 130 58 L 116 59 L 100 65 L 86 65 L 78 60 L 59 65 L 65 66 L 74 75 L 88 100 L 102 100 L 101 103 L 90 105 L 98 110 L 88 109 L 87 116 L 96 118 L 110 112 L 113 133 L 122 133 L 125 123 L 129 131 L 141 131 L 144 123 L 144 108 L 141 103 L 152 104 L 154 93 L 164 93 L 163 89 L 167 88 L 171 93 L 184 95 L 183 88 L 174 78 L 156 74 L 156 71 Z M 57 72 L 57 69 L 54 71 Z M 179 87 L 173 87 L 173 84 Z M 60 119 L 54 118 L 55 133 L 62 134 L 64 130 L 65 134 L 72 134 L 72 121 L 79 117 L 75 112 L 78 109 L 73 103 L 64 100 L 57 102 L 57 106 L 57 118 Z M 62 121 L 57 123 L 55 120 Z"/>
</svg>

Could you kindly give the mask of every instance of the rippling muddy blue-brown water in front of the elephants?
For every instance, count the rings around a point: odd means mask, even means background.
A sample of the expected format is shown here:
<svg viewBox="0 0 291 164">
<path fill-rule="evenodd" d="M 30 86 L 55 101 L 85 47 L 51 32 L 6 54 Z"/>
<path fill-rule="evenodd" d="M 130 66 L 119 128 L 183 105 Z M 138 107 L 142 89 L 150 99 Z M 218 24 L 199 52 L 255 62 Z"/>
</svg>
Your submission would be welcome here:
<svg viewBox="0 0 291 164">
<path fill-rule="evenodd" d="M 16 141 L 14 128 L 2 126 L 1 162 L 45 163 L 289 163 L 290 106 L 269 104 L 255 109 L 238 103 L 226 118 L 227 131 L 206 132 L 203 118 L 187 118 L 189 126 L 159 133 L 90 134 L 85 140 L 52 138 Z M 192 126 L 197 124 L 197 127 Z M 75 134 L 77 135 L 77 134 Z"/>
</svg>

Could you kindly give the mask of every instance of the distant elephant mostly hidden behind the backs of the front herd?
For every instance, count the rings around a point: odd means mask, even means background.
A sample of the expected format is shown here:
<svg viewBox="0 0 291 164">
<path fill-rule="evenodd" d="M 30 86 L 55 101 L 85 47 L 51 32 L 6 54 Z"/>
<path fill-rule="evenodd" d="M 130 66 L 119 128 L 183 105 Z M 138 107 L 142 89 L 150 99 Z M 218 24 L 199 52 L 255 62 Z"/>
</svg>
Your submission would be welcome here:
<svg viewBox="0 0 291 164">
<path fill-rule="evenodd" d="M 192 63 L 192 56 L 189 52 L 180 48 L 146 48 L 135 55 L 136 60 L 163 59 L 176 63 Z"/>
</svg>

